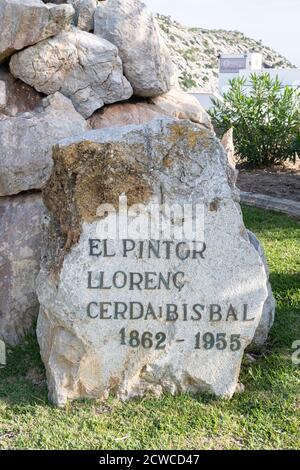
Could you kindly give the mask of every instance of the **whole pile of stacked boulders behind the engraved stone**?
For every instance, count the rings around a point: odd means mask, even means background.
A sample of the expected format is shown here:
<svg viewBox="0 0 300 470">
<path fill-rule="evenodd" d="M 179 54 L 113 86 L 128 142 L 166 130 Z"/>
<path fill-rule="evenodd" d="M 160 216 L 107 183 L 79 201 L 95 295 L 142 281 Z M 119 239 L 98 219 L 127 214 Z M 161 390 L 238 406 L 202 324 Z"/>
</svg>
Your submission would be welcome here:
<svg viewBox="0 0 300 470">
<path fill-rule="evenodd" d="M 52 147 L 90 129 L 161 116 L 211 129 L 139 0 L 0 4 L 0 339 L 31 328 Z"/>
</svg>

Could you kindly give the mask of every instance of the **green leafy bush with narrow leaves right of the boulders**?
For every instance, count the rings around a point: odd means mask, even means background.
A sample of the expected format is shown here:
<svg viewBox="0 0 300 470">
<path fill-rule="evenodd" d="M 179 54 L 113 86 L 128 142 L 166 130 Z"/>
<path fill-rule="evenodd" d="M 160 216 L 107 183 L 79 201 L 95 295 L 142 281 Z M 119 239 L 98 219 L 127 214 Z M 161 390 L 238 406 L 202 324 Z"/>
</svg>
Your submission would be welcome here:
<svg viewBox="0 0 300 470">
<path fill-rule="evenodd" d="M 234 129 L 238 157 L 249 166 L 268 166 L 300 155 L 300 94 L 269 74 L 230 81 L 223 102 L 210 115 L 220 132 Z"/>
</svg>

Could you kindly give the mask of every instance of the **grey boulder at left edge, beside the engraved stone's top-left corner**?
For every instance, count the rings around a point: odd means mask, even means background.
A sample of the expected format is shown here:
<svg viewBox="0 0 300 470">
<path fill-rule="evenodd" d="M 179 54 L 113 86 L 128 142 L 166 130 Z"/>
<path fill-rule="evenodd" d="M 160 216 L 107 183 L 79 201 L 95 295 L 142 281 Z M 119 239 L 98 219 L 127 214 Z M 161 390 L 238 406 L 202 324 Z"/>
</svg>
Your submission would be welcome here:
<svg viewBox="0 0 300 470">
<path fill-rule="evenodd" d="M 41 188 L 51 172 L 52 146 L 88 128 L 60 93 L 34 111 L 0 120 L 0 196 Z"/>
</svg>

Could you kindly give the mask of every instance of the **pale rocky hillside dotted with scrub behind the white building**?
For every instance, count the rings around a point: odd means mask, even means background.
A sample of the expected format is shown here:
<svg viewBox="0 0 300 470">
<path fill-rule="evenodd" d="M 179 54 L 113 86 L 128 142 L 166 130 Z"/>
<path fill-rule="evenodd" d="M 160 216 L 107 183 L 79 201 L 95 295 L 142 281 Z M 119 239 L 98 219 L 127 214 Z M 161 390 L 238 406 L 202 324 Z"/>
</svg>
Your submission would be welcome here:
<svg viewBox="0 0 300 470">
<path fill-rule="evenodd" d="M 239 31 L 187 28 L 164 15 L 157 15 L 157 20 L 172 59 L 179 68 L 179 80 L 184 90 L 216 89 L 220 53 L 262 52 L 267 67 L 294 67 L 278 52 Z"/>
</svg>

